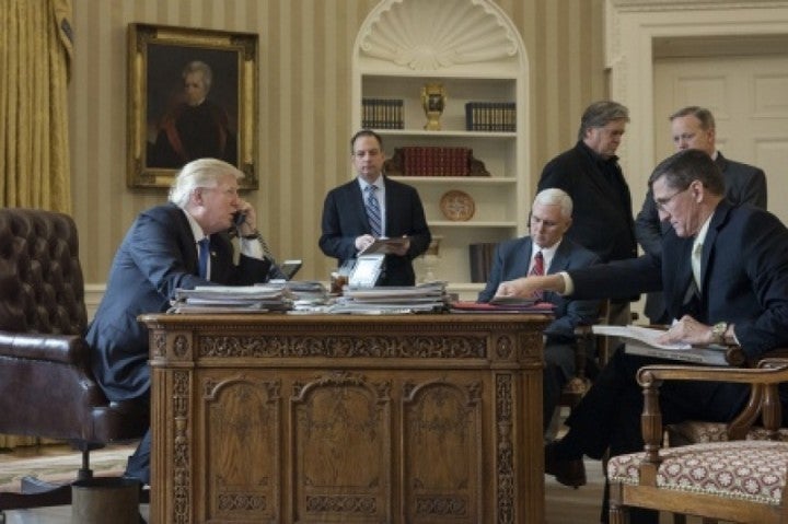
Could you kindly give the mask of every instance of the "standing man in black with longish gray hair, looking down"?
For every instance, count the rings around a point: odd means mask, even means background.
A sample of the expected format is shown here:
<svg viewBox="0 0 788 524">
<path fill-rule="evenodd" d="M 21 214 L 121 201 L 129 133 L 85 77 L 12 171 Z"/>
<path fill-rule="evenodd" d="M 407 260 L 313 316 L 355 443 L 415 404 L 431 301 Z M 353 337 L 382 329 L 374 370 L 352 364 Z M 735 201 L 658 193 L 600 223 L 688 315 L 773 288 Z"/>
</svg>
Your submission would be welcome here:
<svg viewBox="0 0 788 524">
<path fill-rule="evenodd" d="M 571 197 L 575 220 L 566 236 L 603 263 L 637 256 L 631 196 L 615 154 L 628 121 L 629 110 L 617 102 L 589 105 L 577 143 L 545 165 L 538 183 L 540 190 L 556 187 Z M 629 324 L 629 302 L 611 301 L 611 323 Z"/>
</svg>

